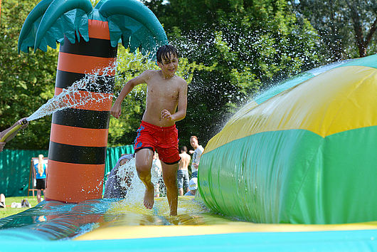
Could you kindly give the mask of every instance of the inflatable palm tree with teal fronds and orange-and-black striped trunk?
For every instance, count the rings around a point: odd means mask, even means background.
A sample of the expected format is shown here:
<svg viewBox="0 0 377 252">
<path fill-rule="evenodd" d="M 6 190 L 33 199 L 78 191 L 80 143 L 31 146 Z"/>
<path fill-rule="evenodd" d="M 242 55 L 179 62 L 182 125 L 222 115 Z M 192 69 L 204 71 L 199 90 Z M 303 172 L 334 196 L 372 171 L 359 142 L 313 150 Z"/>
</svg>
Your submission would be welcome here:
<svg viewBox="0 0 377 252">
<path fill-rule="evenodd" d="M 55 95 L 85 75 L 85 90 L 102 98 L 53 113 L 48 150 L 46 199 L 80 202 L 102 197 L 112 90 L 121 41 L 131 51 L 154 56 L 167 43 L 156 16 L 136 0 L 43 0 L 28 15 L 18 38 L 18 53 L 47 51 L 60 43 Z"/>
</svg>

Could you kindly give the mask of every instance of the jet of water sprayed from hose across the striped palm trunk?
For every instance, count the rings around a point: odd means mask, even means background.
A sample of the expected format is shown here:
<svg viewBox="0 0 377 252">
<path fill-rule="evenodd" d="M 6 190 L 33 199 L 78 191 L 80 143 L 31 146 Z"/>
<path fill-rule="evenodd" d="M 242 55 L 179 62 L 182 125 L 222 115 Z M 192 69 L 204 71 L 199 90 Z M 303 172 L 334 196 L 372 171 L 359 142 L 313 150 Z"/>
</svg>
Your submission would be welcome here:
<svg viewBox="0 0 377 252">
<path fill-rule="evenodd" d="M 27 117 L 26 120 L 36 120 L 68 107 L 82 107 L 88 103 L 99 104 L 110 102 L 113 95 L 93 93 L 90 91 L 98 91 L 100 88 L 98 87 L 96 80 L 105 75 L 110 76 L 110 73 L 114 72 L 116 68 L 116 63 L 113 63 L 105 68 L 94 70 L 93 73 L 85 74 L 83 78 L 75 81 L 70 87 L 63 88 L 63 91 L 59 95 L 54 95 L 53 98 L 39 107 L 38 110 L 33 112 L 33 114 Z M 107 83 L 107 81 L 105 80 L 105 85 L 111 85 L 110 83 Z M 101 85 L 104 84 L 101 83 Z M 107 89 L 111 90 L 111 88 Z"/>
</svg>

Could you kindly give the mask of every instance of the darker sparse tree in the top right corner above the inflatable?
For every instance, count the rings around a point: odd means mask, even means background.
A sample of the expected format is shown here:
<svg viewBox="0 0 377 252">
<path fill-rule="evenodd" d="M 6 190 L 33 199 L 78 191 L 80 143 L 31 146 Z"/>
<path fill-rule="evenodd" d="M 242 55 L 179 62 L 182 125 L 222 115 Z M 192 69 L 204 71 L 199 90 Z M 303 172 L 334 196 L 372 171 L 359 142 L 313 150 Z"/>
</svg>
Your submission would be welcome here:
<svg viewBox="0 0 377 252">
<path fill-rule="evenodd" d="M 300 0 L 291 4 L 299 19 L 309 20 L 318 31 L 322 52 L 328 51 L 330 62 L 376 53 L 376 1 Z"/>
</svg>

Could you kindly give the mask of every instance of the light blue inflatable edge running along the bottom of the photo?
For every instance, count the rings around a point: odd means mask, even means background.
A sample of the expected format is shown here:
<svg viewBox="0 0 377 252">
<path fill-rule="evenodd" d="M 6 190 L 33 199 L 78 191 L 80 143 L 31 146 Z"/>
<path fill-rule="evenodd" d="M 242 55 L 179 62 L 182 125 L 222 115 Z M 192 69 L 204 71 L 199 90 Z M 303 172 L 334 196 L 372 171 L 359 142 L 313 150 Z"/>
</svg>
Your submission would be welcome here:
<svg viewBox="0 0 377 252">
<path fill-rule="evenodd" d="M 95 241 L 1 241 L 1 251 L 376 251 L 377 229 L 274 233 L 226 233 Z"/>
</svg>

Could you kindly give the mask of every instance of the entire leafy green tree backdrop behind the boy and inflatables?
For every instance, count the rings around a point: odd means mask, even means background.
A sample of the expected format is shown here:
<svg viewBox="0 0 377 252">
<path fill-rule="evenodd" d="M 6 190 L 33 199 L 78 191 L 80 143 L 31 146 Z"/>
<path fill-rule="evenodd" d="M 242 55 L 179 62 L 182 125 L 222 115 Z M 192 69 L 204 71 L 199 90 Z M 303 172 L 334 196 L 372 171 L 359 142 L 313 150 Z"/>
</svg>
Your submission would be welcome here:
<svg viewBox="0 0 377 252">
<path fill-rule="evenodd" d="M 95 1 L 93 1 L 95 2 Z M 17 54 L 19 31 L 37 0 L 1 6 L 0 130 L 53 98 L 58 51 Z M 258 91 L 290 75 L 376 51 L 376 4 L 367 0 L 144 1 L 179 49 L 178 74 L 188 82 L 186 118 L 177 122 L 180 145 L 213 137 Z M 115 97 L 124 83 L 157 69 L 140 54 L 118 49 Z M 108 146 L 132 144 L 145 108 L 145 85 L 110 120 Z M 51 116 L 30 126 L 6 148 L 48 149 Z"/>
</svg>

